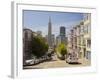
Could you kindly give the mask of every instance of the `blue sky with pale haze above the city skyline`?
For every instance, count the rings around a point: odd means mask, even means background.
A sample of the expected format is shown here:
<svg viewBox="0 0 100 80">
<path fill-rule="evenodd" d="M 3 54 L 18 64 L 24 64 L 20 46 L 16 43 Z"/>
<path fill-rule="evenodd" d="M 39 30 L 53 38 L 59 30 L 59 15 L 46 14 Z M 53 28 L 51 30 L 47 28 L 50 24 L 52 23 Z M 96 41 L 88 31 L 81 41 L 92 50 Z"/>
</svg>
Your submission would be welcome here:
<svg viewBox="0 0 100 80">
<path fill-rule="evenodd" d="M 49 17 L 52 23 L 52 34 L 57 36 L 60 34 L 60 26 L 66 27 L 67 34 L 83 19 L 83 13 L 23 10 L 23 27 L 34 32 L 42 31 L 42 35 L 45 36 L 48 34 Z"/>
</svg>

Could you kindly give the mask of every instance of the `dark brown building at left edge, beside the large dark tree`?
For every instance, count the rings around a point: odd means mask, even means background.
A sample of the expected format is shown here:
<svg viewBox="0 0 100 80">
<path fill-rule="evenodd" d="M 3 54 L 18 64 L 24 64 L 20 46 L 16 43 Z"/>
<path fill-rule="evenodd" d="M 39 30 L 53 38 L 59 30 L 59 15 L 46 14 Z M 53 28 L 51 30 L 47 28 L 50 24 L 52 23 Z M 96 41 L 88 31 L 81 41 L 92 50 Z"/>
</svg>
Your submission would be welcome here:
<svg viewBox="0 0 100 80">
<path fill-rule="evenodd" d="M 25 65 L 25 60 L 31 58 L 32 53 L 32 37 L 33 32 L 30 29 L 23 29 L 23 65 Z"/>
</svg>

